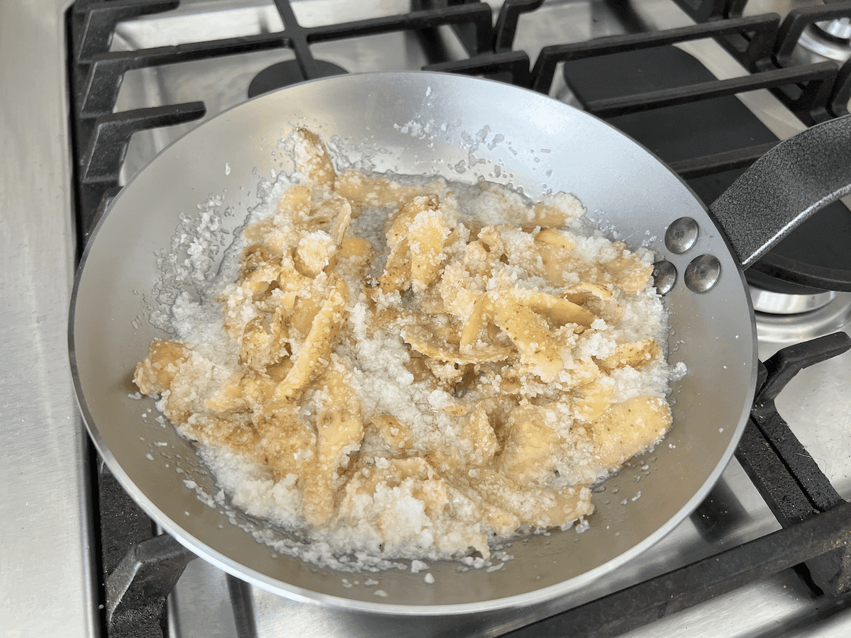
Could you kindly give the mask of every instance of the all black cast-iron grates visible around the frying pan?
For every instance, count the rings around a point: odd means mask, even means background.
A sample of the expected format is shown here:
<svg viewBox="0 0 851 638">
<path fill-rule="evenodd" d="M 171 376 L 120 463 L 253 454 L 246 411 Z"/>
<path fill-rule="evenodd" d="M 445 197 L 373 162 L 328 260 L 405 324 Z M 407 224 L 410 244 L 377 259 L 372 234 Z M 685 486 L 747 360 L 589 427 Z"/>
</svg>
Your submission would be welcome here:
<svg viewBox="0 0 851 638">
<path fill-rule="evenodd" d="M 831 12 L 829 17 L 842 12 L 851 14 L 851 3 L 835 3 L 821 8 L 821 13 L 792 12 L 781 25 L 776 16 L 741 18 L 744 2 L 740 0 L 677 0 L 699 24 L 545 47 L 534 66 L 530 66 L 528 56 L 513 51 L 512 45 L 523 14 L 538 9 L 542 2 L 508 0 L 495 26 L 485 3 L 414 0 L 412 11 L 407 14 L 308 29 L 298 25 L 288 0 L 275 0 L 286 33 L 111 52 L 111 39 L 119 21 L 174 9 L 179 0 L 77 0 L 68 13 L 68 32 L 79 245 L 84 246 L 100 215 L 120 190 L 119 171 L 131 136 L 149 128 L 191 122 L 206 113 L 202 102 L 113 112 L 124 73 L 133 69 L 288 48 L 296 55 L 296 79 L 323 77 L 338 71 L 313 58 L 311 43 L 407 30 L 419 34 L 428 48 L 435 28 L 451 26 L 469 59 L 443 61 L 436 47 L 428 55 L 433 62 L 426 68 L 494 77 L 544 93 L 551 91 L 561 69 L 568 84 L 574 83 L 580 103 L 620 128 L 629 128 L 630 117 L 728 98 L 753 88 L 769 88 L 808 122 L 842 115 L 851 97 L 851 63 L 838 71 L 832 63 L 795 68 L 787 64 L 791 46 L 805 26 L 824 19 L 825 11 Z M 615 96 L 594 96 L 591 87 L 590 94 L 582 95 L 580 65 L 588 60 L 605 60 L 630 51 L 658 51 L 671 43 L 705 37 L 715 38 L 752 74 L 734 81 L 645 86 Z M 694 180 L 717 180 L 719 175 L 744 168 L 775 143 L 776 140 L 764 140 L 746 148 L 739 145 L 731 150 L 678 157 L 670 163 L 681 175 L 693 179 L 693 186 L 700 186 Z M 700 188 L 696 190 L 700 192 Z M 804 562 L 815 587 L 828 595 L 847 593 L 851 580 L 848 504 L 838 498 L 773 410 L 776 392 L 794 371 L 848 349 L 847 335 L 825 339 L 767 362 L 763 371 L 767 380 L 761 385 L 751 423 L 737 452 L 741 464 L 784 524 L 783 530 L 512 635 L 616 635 Z M 105 635 L 159 638 L 167 633 L 164 603 L 168 592 L 194 556 L 172 538 L 156 535 L 151 520 L 102 463 L 97 474 Z"/>
</svg>

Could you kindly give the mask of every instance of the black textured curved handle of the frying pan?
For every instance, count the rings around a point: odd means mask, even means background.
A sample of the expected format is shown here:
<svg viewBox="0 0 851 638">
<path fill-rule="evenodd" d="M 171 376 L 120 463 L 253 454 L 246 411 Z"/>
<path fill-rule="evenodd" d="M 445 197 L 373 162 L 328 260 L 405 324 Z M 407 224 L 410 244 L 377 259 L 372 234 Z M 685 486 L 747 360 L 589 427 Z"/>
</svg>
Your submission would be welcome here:
<svg viewBox="0 0 851 638">
<path fill-rule="evenodd" d="M 742 268 L 851 192 L 851 116 L 817 124 L 760 157 L 712 203 Z"/>
</svg>

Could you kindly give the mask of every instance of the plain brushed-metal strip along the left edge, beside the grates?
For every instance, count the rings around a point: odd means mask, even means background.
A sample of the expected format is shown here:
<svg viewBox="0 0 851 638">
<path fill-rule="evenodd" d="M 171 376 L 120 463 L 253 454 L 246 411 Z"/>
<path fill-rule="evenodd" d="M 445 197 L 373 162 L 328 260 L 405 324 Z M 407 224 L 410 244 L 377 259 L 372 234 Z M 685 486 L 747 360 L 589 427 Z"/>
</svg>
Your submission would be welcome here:
<svg viewBox="0 0 851 638">
<path fill-rule="evenodd" d="M 0 3 L 0 635 L 9 637 L 97 631 L 86 434 L 66 329 L 74 232 L 65 8 Z"/>
</svg>

